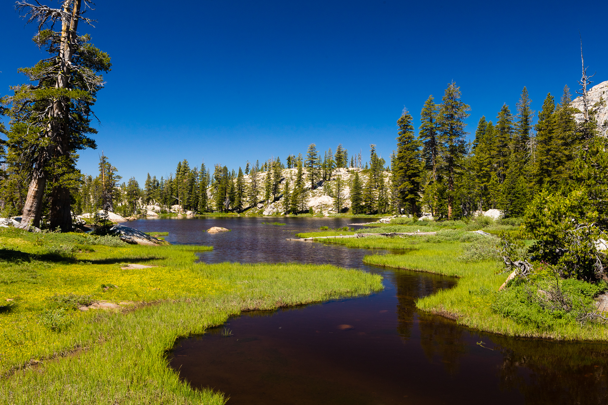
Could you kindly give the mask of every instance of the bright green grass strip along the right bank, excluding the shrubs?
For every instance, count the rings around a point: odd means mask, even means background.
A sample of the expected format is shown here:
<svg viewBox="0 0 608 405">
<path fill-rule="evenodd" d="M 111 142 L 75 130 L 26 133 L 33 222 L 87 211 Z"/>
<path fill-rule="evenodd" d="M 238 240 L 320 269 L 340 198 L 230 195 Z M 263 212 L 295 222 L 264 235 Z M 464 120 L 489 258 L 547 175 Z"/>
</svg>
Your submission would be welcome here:
<svg viewBox="0 0 608 405">
<path fill-rule="evenodd" d="M 379 230 L 395 226 L 381 227 Z M 392 230 L 391 232 L 403 232 Z M 498 289 L 508 274 L 498 260 L 465 261 L 472 243 L 483 241 L 464 229 L 440 229 L 437 235 L 386 238 L 337 238 L 324 243 L 340 243 L 350 247 L 398 249 L 401 254 L 367 255 L 365 263 L 390 268 L 411 269 L 458 277 L 454 288 L 439 291 L 419 299 L 416 306 L 421 310 L 442 314 L 457 322 L 478 330 L 506 336 L 528 336 L 558 340 L 608 340 L 608 327 L 598 323 L 580 325 L 576 322 L 557 323 L 551 328 L 539 328 L 532 324 L 517 323 L 492 310 L 499 297 Z M 471 242 L 472 241 L 472 242 Z"/>
</svg>

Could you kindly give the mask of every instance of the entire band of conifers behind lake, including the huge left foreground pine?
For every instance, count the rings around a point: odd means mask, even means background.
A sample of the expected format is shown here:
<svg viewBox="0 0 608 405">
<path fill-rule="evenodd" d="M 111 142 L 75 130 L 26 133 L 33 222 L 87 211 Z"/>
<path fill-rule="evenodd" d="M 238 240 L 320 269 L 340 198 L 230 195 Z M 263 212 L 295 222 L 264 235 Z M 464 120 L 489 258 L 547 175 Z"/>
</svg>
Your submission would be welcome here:
<svg viewBox="0 0 608 405">
<path fill-rule="evenodd" d="M 36 3 L 37 4 L 37 3 Z M 567 86 L 559 99 L 547 94 L 541 111 L 531 109 L 523 88 L 514 109 L 503 105 L 496 117 L 482 117 L 471 142 L 466 119 L 471 108 L 460 88 L 450 83 L 440 102 L 432 95 L 420 112 L 416 130 L 404 110 L 397 121 L 396 150 L 387 162 L 370 145 L 349 154 L 317 151 L 289 154 L 285 164 L 271 157 L 238 171 L 226 165 L 207 168 L 178 163 L 168 176 L 150 176 L 140 185 L 122 179 L 109 158 L 100 154 L 99 171 L 83 175 L 78 150 L 96 148 L 92 107 L 103 88 L 102 72 L 111 70 L 108 54 L 78 34 L 92 22 L 83 16 L 88 3 L 65 0 L 60 9 L 18 2 L 26 21 L 37 25 L 34 43 L 49 55 L 33 67 L 19 69 L 28 83 L 13 86 L 0 99 L 0 211 L 21 215 L 22 227 L 72 229 L 73 215 L 113 210 L 129 216 L 145 206 L 193 212 L 242 212 L 281 200 L 283 213 L 308 211 L 309 198 L 330 196 L 336 212 L 399 213 L 435 218 L 463 218 L 488 209 L 520 216 L 535 196 L 573 181 L 574 163 L 595 139 L 595 114 L 603 100 L 585 111 L 571 106 Z M 581 93 L 589 83 L 583 72 Z M 575 114 L 584 119 L 577 122 Z M 536 119 L 536 122 L 534 120 Z M 341 170 L 336 170 L 341 169 Z M 43 220 L 44 221 L 41 221 Z"/>
</svg>

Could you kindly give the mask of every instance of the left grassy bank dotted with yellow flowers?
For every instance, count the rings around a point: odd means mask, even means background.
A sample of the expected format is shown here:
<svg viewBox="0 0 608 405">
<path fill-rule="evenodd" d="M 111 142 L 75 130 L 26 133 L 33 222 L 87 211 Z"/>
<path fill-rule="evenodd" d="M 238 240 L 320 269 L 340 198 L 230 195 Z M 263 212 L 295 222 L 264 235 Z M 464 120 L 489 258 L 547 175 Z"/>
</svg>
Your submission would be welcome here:
<svg viewBox="0 0 608 405">
<path fill-rule="evenodd" d="M 0 313 L 3 403 L 221 404 L 221 393 L 193 390 L 168 368 L 177 338 L 243 310 L 382 288 L 378 276 L 330 265 L 194 263 L 204 246 L 104 246 L 75 234 L 41 241 L 14 229 L 0 238 L 0 297 L 12 299 Z M 86 300 L 135 305 L 77 310 Z"/>
</svg>

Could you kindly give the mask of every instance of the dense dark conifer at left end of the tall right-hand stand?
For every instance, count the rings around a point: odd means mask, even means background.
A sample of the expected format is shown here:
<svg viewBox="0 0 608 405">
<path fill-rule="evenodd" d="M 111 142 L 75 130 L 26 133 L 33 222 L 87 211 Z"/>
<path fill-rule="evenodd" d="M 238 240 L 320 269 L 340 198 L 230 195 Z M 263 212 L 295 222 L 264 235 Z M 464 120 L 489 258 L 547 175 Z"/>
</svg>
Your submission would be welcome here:
<svg viewBox="0 0 608 405">
<path fill-rule="evenodd" d="M 421 152 L 422 141 L 416 139 L 412 116 L 404 109 L 401 117 L 397 120 L 399 128 L 397 136 L 397 151 L 392 162 L 392 181 L 397 199 L 397 209 L 409 209 L 416 216 L 418 208 L 416 203 L 419 199 L 421 189 Z"/>
</svg>

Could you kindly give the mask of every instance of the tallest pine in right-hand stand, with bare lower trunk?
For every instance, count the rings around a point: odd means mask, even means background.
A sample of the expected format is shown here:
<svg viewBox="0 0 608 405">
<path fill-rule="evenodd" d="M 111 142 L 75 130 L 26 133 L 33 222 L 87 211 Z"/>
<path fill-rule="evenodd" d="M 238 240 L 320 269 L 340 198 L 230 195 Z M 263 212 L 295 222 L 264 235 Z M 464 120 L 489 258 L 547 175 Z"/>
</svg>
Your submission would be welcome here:
<svg viewBox="0 0 608 405">
<path fill-rule="evenodd" d="M 452 218 L 454 205 L 454 179 L 460 160 L 466 154 L 465 120 L 471 109 L 460 101 L 460 88 L 454 82 L 447 86 L 443 95 L 439 114 L 439 133 L 441 136 L 441 151 L 446 164 L 447 176 L 447 218 Z"/>
</svg>

